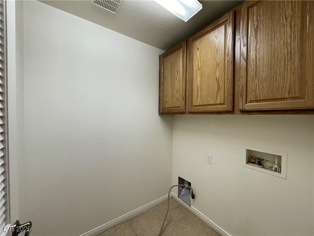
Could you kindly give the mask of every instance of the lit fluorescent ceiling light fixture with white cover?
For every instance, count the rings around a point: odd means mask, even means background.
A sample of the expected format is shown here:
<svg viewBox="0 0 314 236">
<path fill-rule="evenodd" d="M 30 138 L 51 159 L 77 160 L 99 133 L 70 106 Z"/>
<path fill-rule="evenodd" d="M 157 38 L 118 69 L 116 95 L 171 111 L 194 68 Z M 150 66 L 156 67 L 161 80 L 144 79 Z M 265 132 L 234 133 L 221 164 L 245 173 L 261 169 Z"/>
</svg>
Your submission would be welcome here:
<svg viewBox="0 0 314 236">
<path fill-rule="evenodd" d="M 158 4 L 187 22 L 202 9 L 198 0 L 155 0 Z"/>
</svg>

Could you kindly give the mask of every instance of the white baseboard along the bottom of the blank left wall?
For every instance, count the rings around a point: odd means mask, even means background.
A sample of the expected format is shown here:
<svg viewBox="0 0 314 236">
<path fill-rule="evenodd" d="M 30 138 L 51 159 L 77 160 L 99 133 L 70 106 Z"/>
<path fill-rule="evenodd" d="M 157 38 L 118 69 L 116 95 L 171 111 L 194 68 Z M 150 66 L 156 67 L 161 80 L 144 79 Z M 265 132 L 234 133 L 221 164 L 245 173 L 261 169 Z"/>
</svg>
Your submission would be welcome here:
<svg viewBox="0 0 314 236">
<path fill-rule="evenodd" d="M 150 202 L 142 207 L 138 207 L 137 209 L 135 210 L 132 210 L 122 216 L 119 216 L 118 218 L 115 218 L 93 230 L 90 230 L 80 236 L 97 236 L 98 234 L 102 233 L 103 231 L 115 226 L 115 225 L 118 225 L 120 223 L 122 223 L 123 221 L 125 220 L 128 220 L 142 212 L 144 212 L 145 210 L 148 210 L 149 208 L 152 208 L 152 207 L 155 207 L 156 205 L 158 205 L 159 203 L 162 203 L 163 201 L 167 200 L 168 198 L 168 194 L 163 196 L 163 197 L 160 197 L 158 199 L 156 199 L 155 201 L 153 202 Z"/>
</svg>

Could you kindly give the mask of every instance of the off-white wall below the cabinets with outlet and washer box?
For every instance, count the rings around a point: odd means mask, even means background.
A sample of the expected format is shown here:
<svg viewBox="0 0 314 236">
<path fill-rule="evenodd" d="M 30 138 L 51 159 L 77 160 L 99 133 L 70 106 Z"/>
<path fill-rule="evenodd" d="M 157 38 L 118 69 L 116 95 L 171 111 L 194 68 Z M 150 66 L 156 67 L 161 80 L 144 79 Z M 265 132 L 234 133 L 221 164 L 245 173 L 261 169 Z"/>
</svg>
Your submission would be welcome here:
<svg viewBox="0 0 314 236">
<path fill-rule="evenodd" d="M 313 236 L 313 118 L 176 116 L 173 184 L 190 181 L 193 207 L 233 236 Z M 287 152 L 287 179 L 242 167 L 243 146 Z"/>
</svg>

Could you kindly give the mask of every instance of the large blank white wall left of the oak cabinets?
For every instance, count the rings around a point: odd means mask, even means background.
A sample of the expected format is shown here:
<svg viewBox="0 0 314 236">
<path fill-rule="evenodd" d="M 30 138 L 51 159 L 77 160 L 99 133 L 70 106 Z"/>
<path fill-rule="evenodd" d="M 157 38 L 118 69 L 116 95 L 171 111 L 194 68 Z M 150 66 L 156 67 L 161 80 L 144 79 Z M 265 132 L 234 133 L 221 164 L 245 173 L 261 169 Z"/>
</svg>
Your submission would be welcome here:
<svg viewBox="0 0 314 236">
<path fill-rule="evenodd" d="M 33 222 L 33 236 L 77 236 L 166 194 L 172 118 L 157 116 L 161 53 L 24 1 L 20 220 Z"/>
</svg>

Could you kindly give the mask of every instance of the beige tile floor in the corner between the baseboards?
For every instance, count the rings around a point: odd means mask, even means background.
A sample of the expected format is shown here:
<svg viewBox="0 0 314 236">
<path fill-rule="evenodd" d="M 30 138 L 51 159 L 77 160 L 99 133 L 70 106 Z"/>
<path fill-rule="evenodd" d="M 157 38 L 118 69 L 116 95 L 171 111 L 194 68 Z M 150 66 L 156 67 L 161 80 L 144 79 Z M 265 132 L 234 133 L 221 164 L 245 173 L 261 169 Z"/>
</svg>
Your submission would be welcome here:
<svg viewBox="0 0 314 236">
<path fill-rule="evenodd" d="M 167 209 L 167 201 L 116 225 L 98 236 L 157 236 Z M 220 236 L 173 198 L 162 236 Z"/>
</svg>

